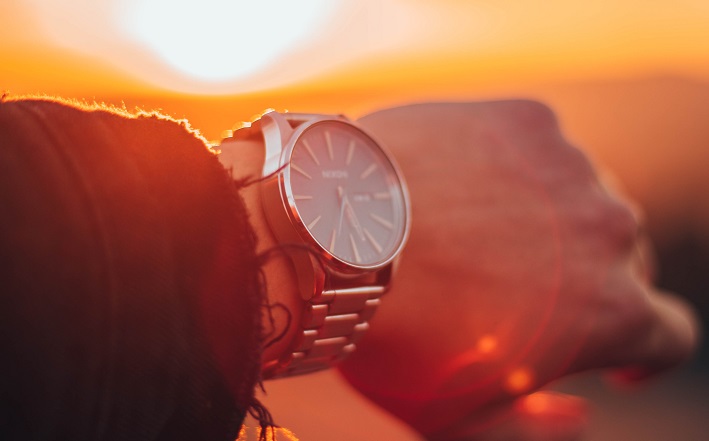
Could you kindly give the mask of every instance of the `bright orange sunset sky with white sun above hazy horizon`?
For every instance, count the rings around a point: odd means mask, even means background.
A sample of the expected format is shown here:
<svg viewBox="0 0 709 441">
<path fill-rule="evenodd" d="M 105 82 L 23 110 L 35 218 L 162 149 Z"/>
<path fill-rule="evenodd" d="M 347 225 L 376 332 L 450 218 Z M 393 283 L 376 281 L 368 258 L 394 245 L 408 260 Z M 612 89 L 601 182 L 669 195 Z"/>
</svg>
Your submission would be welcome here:
<svg viewBox="0 0 709 441">
<path fill-rule="evenodd" d="M 426 93 L 709 78 L 709 3 L 640 0 L 3 0 L 15 93 Z"/>
</svg>

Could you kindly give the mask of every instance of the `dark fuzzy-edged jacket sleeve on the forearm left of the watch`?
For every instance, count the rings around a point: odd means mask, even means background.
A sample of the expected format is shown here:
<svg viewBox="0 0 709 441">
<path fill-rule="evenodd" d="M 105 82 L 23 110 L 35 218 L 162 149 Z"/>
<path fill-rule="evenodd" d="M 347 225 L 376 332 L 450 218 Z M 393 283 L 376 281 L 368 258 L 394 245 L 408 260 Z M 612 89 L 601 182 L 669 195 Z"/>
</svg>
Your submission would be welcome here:
<svg viewBox="0 0 709 441">
<path fill-rule="evenodd" d="M 259 372 L 254 248 L 179 123 L 0 102 L 0 439 L 233 440 Z"/>
</svg>

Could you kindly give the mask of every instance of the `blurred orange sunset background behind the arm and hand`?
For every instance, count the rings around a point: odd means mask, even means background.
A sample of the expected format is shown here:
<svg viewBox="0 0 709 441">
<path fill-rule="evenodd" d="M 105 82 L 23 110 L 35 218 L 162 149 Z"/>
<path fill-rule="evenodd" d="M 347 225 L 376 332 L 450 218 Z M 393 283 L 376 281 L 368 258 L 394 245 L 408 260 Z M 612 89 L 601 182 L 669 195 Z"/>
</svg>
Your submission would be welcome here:
<svg viewBox="0 0 709 441">
<path fill-rule="evenodd" d="M 659 283 L 709 318 L 706 0 L 0 0 L 0 91 L 160 109 L 208 139 L 269 107 L 537 99 L 644 208 Z M 705 349 L 632 393 L 560 387 L 593 401 L 589 440 L 707 439 Z"/>
</svg>

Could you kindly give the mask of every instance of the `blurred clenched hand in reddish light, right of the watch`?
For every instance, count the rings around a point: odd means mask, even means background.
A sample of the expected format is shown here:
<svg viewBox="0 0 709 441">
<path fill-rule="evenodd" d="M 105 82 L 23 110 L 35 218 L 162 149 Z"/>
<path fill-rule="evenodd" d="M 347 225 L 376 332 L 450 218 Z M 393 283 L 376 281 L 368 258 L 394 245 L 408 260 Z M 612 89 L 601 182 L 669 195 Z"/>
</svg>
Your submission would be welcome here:
<svg viewBox="0 0 709 441">
<path fill-rule="evenodd" d="M 431 440 L 573 439 L 583 405 L 533 392 L 591 369 L 637 380 L 692 352 L 695 318 L 652 287 L 636 216 L 548 109 L 425 104 L 361 123 L 413 203 L 394 288 L 341 365 L 380 406 Z M 560 419 L 566 432 L 544 432 Z"/>
</svg>

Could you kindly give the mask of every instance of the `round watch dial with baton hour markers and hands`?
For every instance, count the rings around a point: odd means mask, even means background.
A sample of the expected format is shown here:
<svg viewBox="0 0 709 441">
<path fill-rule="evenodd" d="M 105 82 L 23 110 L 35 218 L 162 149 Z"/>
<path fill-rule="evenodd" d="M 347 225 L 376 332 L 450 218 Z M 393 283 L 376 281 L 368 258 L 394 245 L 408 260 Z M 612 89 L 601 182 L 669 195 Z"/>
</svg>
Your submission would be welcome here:
<svg viewBox="0 0 709 441">
<path fill-rule="evenodd" d="M 307 234 L 357 267 L 390 261 L 406 235 L 403 183 L 379 145 L 339 121 L 314 123 L 292 147 L 289 203 Z"/>
</svg>

